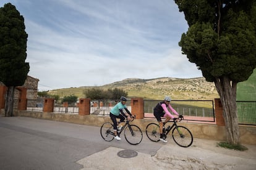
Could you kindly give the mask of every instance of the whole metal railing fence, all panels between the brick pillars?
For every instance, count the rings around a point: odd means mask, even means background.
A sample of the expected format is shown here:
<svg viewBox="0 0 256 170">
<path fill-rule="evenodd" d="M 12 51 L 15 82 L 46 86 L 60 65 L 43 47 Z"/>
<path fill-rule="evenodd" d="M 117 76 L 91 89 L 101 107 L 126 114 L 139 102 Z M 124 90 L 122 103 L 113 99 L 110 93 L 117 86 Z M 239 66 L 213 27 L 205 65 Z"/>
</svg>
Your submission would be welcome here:
<svg viewBox="0 0 256 170">
<path fill-rule="evenodd" d="M 43 111 L 44 101 L 44 99 L 27 100 L 27 110 Z M 155 118 L 153 108 L 159 102 L 161 100 L 144 100 L 144 118 Z M 108 116 L 109 111 L 116 103 L 117 101 L 114 100 L 92 101 L 90 114 Z M 76 103 L 69 105 L 69 107 L 62 105 L 61 101 L 54 101 L 53 111 L 55 113 L 79 114 L 79 107 Z M 130 100 L 127 100 L 126 105 L 131 110 Z M 173 100 L 171 106 L 187 121 L 215 122 L 213 100 Z M 256 102 L 237 101 L 237 116 L 239 124 L 256 125 Z"/>
</svg>

